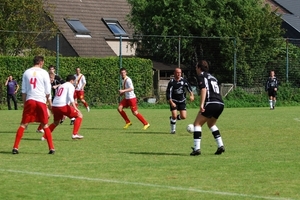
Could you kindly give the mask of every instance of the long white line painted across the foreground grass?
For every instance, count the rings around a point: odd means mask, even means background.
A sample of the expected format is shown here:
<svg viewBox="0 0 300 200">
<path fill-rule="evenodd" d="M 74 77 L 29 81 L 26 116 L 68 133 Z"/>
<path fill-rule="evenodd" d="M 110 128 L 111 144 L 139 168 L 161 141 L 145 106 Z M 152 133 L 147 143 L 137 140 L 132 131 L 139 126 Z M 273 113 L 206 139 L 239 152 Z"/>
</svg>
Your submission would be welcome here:
<svg viewBox="0 0 300 200">
<path fill-rule="evenodd" d="M 77 180 L 95 181 L 95 182 L 117 183 L 117 184 L 124 184 L 124 185 L 137 185 L 137 186 L 163 188 L 163 189 L 178 190 L 178 191 L 179 190 L 191 191 L 191 192 L 208 193 L 208 194 L 221 195 L 221 196 L 237 196 L 237 197 L 247 197 L 247 198 L 253 198 L 253 199 L 270 199 L 270 200 L 293 200 L 293 199 L 290 199 L 290 198 L 282 198 L 282 197 L 268 197 L 268 196 L 248 195 L 248 194 L 239 194 L 239 193 L 233 193 L 233 192 L 219 192 L 219 191 L 211 191 L 211 190 L 201 190 L 201 189 L 196 189 L 196 188 L 185 188 L 185 187 L 175 187 L 175 186 L 166 186 L 166 185 L 156 185 L 156 184 L 150 184 L 150 183 L 118 181 L 118 180 L 101 179 L 101 178 L 88 178 L 88 177 L 83 177 L 83 176 L 46 174 L 46 173 L 41 173 L 41 172 L 18 171 L 18 170 L 9 170 L 9 169 L 0 169 L 0 171 L 18 173 L 18 174 L 29 174 L 29 175 L 37 175 L 37 176 L 47 176 L 47 177 L 58 177 L 58 178 L 69 178 L 69 179 L 77 179 Z"/>
</svg>

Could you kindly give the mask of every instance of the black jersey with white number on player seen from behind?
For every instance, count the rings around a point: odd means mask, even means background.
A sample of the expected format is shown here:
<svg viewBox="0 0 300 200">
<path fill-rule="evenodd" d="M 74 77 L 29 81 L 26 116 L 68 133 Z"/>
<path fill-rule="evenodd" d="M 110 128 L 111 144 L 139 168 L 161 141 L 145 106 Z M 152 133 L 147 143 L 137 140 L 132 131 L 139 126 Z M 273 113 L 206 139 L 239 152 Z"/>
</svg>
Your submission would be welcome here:
<svg viewBox="0 0 300 200">
<path fill-rule="evenodd" d="M 218 85 L 218 80 L 210 73 L 202 72 L 198 76 L 198 87 L 201 90 L 206 88 L 205 103 L 221 103 L 223 104 L 222 96 Z"/>
</svg>

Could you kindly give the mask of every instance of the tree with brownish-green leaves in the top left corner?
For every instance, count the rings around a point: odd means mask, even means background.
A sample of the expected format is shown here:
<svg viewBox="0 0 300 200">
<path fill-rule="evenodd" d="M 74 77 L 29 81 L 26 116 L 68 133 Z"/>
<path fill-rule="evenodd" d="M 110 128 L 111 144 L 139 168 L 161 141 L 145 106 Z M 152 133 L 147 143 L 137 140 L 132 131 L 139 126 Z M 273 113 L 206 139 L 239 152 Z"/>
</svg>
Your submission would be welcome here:
<svg viewBox="0 0 300 200">
<path fill-rule="evenodd" d="M 57 32 L 50 20 L 51 9 L 47 0 L 1 0 L 0 54 L 20 55 L 36 48 L 37 42 L 51 39 Z"/>
</svg>

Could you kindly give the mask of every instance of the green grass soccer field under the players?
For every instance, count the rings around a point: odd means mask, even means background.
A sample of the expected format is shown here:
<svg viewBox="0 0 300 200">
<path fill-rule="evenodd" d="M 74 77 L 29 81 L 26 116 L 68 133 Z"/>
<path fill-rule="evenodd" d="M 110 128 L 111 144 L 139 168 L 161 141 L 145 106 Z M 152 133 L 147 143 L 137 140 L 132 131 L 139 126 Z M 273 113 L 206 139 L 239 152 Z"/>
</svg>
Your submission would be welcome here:
<svg viewBox="0 0 300 200">
<path fill-rule="evenodd" d="M 19 154 L 12 145 L 21 111 L 0 111 L 0 199 L 300 199 L 299 107 L 228 108 L 218 127 L 226 152 L 203 128 L 202 155 L 189 156 L 197 109 L 169 134 L 168 109 L 140 109 L 151 124 L 126 110 L 83 110 L 82 140 L 72 140 L 69 120 L 53 132 L 56 153 L 30 124 Z M 51 118 L 52 121 L 52 118 Z"/>
</svg>

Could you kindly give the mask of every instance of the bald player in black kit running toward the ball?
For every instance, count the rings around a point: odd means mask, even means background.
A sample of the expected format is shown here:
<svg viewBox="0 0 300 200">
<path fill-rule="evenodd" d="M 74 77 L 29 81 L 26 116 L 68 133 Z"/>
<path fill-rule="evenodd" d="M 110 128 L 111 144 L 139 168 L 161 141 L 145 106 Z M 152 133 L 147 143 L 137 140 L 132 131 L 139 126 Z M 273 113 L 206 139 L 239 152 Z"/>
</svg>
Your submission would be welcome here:
<svg viewBox="0 0 300 200">
<path fill-rule="evenodd" d="M 176 68 L 174 71 L 174 78 L 172 78 L 166 90 L 167 101 L 170 104 L 170 116 L 171 134 L 176 132 L 176 120 L 182 120 L 186 118 L 186 91 L 190 93 L 190 100 L 194 101 L 194 93 L 189 82 L 181 77 L 182 71 L 180 68 Z M 180 114 L 177 114 L 177 110 Z"/>
</svg>

